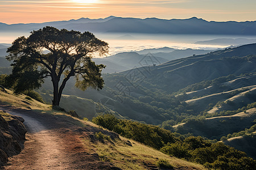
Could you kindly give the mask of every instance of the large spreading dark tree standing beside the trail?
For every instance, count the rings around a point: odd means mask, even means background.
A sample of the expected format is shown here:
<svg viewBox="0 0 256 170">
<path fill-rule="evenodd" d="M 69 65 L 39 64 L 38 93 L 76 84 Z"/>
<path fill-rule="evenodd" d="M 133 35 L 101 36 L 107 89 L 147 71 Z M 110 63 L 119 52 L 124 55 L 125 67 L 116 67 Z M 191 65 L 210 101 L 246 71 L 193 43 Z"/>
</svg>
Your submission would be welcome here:
<svg viewBox="0 0 256 170">
<path fill-rule="evenodd" d="M 101 70 L 91 58 L 108 53 L 108 43 L 97 39 L 92 33 L 68 31 L 44 27 L 32 31 L 29 37 L 19 37 L 8 48 L 9 61 L 14 61 L 9 76 L 14 92 L 39 88 L 44 79 L 51 77 L 53 85 L 52 105 L 59 105 L 65 84 L 75 76 L 77 88 L 102 89 L 104 80 Z M 62 75 L 62 76 L 61 76 Z"/>
</svg>

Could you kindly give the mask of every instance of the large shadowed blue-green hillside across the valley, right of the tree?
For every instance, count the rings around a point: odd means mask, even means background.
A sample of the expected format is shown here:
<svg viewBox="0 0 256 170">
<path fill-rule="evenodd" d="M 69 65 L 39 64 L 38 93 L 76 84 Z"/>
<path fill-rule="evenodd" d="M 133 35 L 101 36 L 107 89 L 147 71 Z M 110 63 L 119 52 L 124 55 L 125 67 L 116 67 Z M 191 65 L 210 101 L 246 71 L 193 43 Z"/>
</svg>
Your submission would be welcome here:
<svg viewBox="0 0 256 170">
<path fill-rule="evenodd" d="M 174 125 L 185 118 L 199 115 L 201 111 L 206 109 L 209 111 L 209 104 L 210 107 L 214 107 L 217 103 L 224 107 L 225 103 L 221 103 L 222 101 L 238 95 L 238 92 L 245 92 L 247 88 L 243 89 L 243 87 L 248 87 L 250 90 L 249 86 L 256 85 L 254 57 L 246 56 L 255 54 L 255 49 L 255 44 L 250 44 L 176 59 L 157 66 L 138 67 L 118 74 L 104 74 L 105 88 L 102 91 L 88 89 L 81 92 L 74 87 L 74 82 L 70 81 L 67 83 L 67 88 L 64 89 L 64 95 L 92 99 L 94 102 L 100 102 L 105 107 L 109 107 L 122 117 L 132 120 L 154 125 L 161 125 L 165 121 L 171 120 L 170 124 Z M 245 57 L 243 57 L 243 53 Z M 233 55 L 241 57 L 233 57 Z M 241 73 L 245 73 L 245 75 L 240 76 Z M 249 73 L 252 74 L 246 75 Z M 225 77 L 219 78 L 220 76 Z M 44 91 L 50 90 L 51 93 L 51 82 L 47 82 L 43 84 L 43 89 Z M 193 85 L 195 90 L 185 91 L 194 83 L 198 83 Z M 177 92 L 177 90 L 181 91 Z M 176 94 L 172 94 L 172 92 Z M 177 96 L 184 92 L 187 94 Z M 221 95 L 221 93 L 223 94 Z M 209 98 L 209 100 L 199 100 L 203 96 L 208 96 L 205 98 Z M 219 98 L 213 102 L 212 96 Z M 249 99 L 246 95 L 244 98 Z M 200 102 L 197 105 L 195 103 L 195 107 L 192 103 L 191 105 L 185 103 L 191 99 L 197 99 L 193 101 L 203 101 L 204 103 L 201 105 Z M 255 102 L 254 98 L 237 101 L 245 101 L 236 104 L 240 108 Z M 197 109 L 198 105 L 200 105 L 200 109 Z M 170 125 L 168 126 L 170 127 Z"/>
</svg>

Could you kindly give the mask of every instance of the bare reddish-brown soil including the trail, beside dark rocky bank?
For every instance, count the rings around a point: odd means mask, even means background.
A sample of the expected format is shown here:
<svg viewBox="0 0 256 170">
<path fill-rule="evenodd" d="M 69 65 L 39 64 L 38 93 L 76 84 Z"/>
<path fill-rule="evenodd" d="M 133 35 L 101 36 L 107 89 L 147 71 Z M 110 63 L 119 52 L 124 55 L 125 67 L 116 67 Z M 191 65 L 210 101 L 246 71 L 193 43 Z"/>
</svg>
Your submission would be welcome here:
<svg viewBox="0 0 256 170">
<path fill-rule="evenodd" d="M 101 162 L 82 143 L 84 131 L 51 114 L 43 114 L 0 104 L 2 110 L 24 118 L 28 133 L 24 149 L 9 158 L 3 169 L 119 169 Z"/>
</svg>

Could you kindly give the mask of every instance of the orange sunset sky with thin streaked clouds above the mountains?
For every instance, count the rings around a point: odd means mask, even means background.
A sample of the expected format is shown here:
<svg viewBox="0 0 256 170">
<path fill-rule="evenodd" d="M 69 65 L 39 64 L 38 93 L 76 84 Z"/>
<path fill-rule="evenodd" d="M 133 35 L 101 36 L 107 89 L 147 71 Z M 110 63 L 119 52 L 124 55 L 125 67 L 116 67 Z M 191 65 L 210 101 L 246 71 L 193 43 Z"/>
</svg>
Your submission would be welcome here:
<svg viewBox="0 0 256 170">
<path fill-rule="evenodd" d="M 0 23 L 42 23 L 110 15 L 214 21 L 256 20 L 255 0 L 0 0 Z"/>
</svg>

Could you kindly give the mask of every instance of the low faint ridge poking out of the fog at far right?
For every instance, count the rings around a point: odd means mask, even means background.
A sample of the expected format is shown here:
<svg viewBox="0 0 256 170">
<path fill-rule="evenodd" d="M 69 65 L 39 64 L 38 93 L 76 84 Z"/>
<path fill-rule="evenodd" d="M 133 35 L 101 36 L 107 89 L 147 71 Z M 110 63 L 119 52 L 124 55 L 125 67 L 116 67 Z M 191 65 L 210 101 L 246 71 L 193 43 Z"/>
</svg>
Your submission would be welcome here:
<svg viewBox="0 0 256 170">
<path fill-rule="evenodd" d="M 214 39 L 208 41 L 197 41 L 195 44 L 208 44 L 208 45 L 243 45 L 256 43 L 256 39 Z"/>
</svg>

